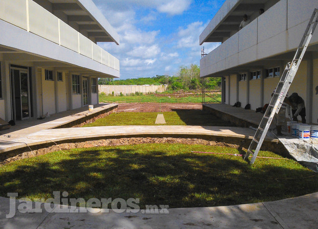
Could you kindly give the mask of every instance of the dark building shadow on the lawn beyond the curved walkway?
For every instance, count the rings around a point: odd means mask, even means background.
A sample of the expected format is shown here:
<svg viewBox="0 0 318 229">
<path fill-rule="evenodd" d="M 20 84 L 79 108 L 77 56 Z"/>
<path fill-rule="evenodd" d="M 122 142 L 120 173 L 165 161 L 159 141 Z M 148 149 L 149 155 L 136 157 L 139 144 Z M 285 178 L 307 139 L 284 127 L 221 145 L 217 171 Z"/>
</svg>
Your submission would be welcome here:
<svg viewBox="0 0 318 229">
<path fill-rule="evenodd" d="M 180 119 L 186 123 L 186 125 L 193 126 L 235 126 L 230 122 L 221 120 L 220 118 L 213 116 L 207 110 L 187 110 L 187 109 L 173 109 L 177 112 Z"/>
</svg>

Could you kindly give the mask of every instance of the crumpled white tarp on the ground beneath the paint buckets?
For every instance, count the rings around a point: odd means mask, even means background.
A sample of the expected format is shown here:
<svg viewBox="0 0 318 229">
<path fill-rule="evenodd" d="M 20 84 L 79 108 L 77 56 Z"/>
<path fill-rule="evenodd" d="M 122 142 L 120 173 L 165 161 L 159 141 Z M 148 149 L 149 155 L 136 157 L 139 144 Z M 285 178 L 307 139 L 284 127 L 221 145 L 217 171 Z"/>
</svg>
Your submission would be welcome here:
<svg viewBox="0 0 318 229">
<path fill-rule="evenodd" d="M 299 163 L 318 172 L 318 141 L 301 140 L 291 136 L 278 137 L 289 154 Z"/>
</svg>

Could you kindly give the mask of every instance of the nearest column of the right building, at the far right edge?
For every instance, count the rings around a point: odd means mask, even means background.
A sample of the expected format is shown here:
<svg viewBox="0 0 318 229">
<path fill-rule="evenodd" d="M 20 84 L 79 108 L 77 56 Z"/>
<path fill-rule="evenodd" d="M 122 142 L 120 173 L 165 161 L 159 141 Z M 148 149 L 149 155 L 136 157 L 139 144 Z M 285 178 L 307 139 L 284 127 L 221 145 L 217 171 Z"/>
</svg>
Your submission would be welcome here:
<svg viewBox="0 0 318 229">
<path fill-rule="evenodd" d="M 310 53 L 310 58 L 307 60 L 307 94 L 306 94 L 306 121 L 312 123 L 312 106 L 313 106 L 313 60 Z"/>
</svg>

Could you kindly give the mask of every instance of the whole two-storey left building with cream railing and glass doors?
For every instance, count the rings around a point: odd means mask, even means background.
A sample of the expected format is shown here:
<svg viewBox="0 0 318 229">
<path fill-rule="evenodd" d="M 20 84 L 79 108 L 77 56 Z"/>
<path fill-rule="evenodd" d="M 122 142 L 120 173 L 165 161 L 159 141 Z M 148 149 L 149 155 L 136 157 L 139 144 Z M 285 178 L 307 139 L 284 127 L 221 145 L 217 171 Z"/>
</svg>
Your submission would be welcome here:
<svg viewBox="0 0 318 229">
<path fill-rule="evenodd" d="M 0 1 L 0 118 L 24 120 L 98 104 L 119 60 L 97 42 L 118 34 L 91 0 Z"/>
</svg>

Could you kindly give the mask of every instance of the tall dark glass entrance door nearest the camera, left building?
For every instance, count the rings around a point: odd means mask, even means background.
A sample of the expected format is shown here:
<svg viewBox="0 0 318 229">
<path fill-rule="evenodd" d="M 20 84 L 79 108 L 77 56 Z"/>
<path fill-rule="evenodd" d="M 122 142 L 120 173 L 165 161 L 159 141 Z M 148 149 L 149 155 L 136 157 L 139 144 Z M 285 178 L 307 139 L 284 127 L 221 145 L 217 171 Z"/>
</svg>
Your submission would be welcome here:
<svg viewBox="0 0 318 229">
<path fill-rule="evenodd" d="M 30 78 L 28 68 L 10 68 L 13 120 L 31 118 Z"/>
</svg>

